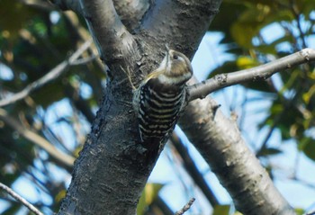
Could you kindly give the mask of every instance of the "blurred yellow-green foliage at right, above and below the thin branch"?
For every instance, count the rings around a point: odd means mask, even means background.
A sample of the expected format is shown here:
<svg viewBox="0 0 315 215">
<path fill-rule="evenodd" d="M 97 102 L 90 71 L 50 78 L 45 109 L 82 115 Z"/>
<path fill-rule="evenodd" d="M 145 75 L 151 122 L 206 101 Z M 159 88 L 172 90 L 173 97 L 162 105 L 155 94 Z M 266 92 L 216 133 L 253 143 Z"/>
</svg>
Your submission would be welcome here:
<svg viewBox="0 0 315 215">
<path fill-rule="evenodd" d="M 211 76 L 255 67 L 309 47 L 314 34 L 311 10 L 314 6 L 315 2 L 308 0 L 224 1 L 220 10 L 228 12 L 229 16 L 219 13 L 210 30 L 224 32 L 220 43 L 234 54 L 234 59 L 217 67 Z M 245 85 L 262 94 L 275 94 L 269 115 L 260 127 L 268 127 L 271 132 L 280 130 L 283 140 L 294 139 L 298 148 L 311 159 L 315 157 L 312 150 L 315 136 L 310 132 L 314 129 L 314 72 L 313 64 L 302 65 L 279 73 L 280 80 L 271 78 Z M 268 139 L 257 154 L 281 152 L 272 148 L 266 150 L 267 142 Z"/>
</svg>

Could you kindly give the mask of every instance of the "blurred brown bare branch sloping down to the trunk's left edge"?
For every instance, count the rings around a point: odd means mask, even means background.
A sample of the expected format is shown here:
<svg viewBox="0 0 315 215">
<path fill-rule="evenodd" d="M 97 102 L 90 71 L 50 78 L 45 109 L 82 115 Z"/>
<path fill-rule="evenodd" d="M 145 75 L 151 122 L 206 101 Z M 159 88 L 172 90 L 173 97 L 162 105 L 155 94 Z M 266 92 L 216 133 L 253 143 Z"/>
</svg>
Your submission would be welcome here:
<svg viewBox="0 0 315 215">
<path fill-rule="evenodd" d="M 54 157 L 59 163 L 66 165 L 67 167 L 72 167 L 75 162 L 75 157 L 71 157 L 62 151 L 55 148 L 49 141 L 42 138 L 39 134 L 32 130 L 24 128 L 18 121 L 13 117 L 9 116 L 8 113 L 0 108 L 0 120 L 6 122 L 11 128 L 16 130 L 25 139 L 29 139 L 31 142 L 43 148 L 51 157 Z"/>
</svg>

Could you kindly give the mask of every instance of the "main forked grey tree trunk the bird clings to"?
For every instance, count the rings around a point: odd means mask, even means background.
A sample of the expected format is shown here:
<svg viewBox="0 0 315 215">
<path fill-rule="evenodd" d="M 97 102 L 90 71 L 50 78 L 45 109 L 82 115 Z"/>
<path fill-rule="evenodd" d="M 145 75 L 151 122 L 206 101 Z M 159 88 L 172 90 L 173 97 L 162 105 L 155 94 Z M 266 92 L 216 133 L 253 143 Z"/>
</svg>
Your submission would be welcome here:
<svg viewBox="0 0 315 215">
<path fill-rule="evenodd" d="M 123 26 L 112 1 L 81 4 L 110 80 L 58 214 L 135 214 L 155 160 L 138 144 L 126 73 L 139 84 L 164 57 L 166 43 L 193 56 L 220 0 L 156 1 L 136 35 Z"/>
</svg>

